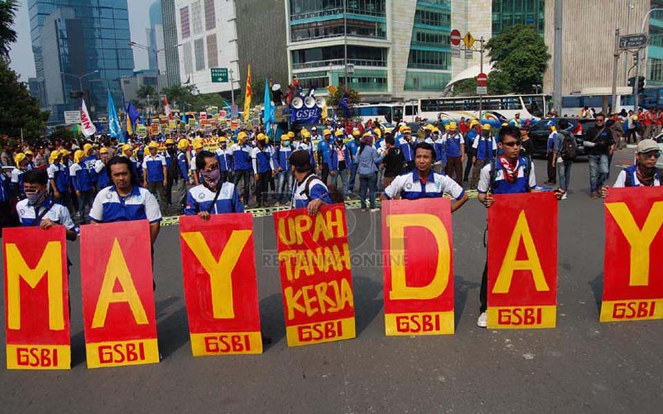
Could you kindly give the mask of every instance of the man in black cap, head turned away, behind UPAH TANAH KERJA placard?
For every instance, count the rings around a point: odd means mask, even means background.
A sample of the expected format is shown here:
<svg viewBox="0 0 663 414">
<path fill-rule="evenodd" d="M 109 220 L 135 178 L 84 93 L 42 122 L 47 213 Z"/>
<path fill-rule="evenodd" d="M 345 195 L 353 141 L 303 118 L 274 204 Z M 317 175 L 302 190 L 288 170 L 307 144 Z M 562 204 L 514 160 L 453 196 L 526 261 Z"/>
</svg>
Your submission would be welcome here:
<svg viewBox="0 0 663 414">
<path fill-rule="evenodd" d="M 308 152 L 293 152 L 290 155 L 290 170 L 295 178 L 291 208 L 307 208 L 309 215 L 316 215 L 320 206 L 332 204 L 327 186 L 314 173 Z"/>
</svg>

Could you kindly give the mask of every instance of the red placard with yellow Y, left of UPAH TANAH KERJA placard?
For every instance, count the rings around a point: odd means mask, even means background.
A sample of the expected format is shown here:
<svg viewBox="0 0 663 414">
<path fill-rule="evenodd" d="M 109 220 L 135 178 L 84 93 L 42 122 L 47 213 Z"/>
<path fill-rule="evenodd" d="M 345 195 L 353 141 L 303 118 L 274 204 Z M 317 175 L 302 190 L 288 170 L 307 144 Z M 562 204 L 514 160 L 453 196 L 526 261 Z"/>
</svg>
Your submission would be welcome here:
<svg viewBox="0 0 663 414">
<path fill-rule="evenodd" d="M 250 213 L 180 217 L 193 356 L 262 353 Z"/>
</svg>

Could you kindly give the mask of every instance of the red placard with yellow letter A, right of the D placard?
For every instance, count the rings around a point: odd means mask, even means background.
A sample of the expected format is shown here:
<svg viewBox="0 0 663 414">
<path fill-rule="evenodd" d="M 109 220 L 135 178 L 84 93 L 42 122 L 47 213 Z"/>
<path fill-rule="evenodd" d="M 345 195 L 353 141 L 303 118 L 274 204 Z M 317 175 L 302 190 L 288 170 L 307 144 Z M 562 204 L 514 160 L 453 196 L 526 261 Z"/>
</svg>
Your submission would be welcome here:
<svg viewBox="0 0 663 414">
<path fill-rule="evenodd" d="M 488 328 L 555 328 L 555 194 L 494 197 L 488 209 Z"/>
</svg>

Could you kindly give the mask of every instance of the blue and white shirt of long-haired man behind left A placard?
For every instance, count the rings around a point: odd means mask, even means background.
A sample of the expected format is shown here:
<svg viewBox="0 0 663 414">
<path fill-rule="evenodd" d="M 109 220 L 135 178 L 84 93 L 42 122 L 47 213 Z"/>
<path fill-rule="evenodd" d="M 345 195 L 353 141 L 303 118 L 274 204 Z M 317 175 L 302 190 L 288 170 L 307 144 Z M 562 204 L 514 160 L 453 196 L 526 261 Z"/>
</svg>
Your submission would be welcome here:
<svg viewBox="0 0 663 414">
<path fill-rule="evenodd" d="M 144 219 L 155 223 L 161 221 L 161 211 L 157 199 L 146 188 L 133 186 L 131 193 L 120 197 L 115 186 L 110 186 L 97 193 L 90 210 L 90 219 L 97 223 Z"/>
</svg>

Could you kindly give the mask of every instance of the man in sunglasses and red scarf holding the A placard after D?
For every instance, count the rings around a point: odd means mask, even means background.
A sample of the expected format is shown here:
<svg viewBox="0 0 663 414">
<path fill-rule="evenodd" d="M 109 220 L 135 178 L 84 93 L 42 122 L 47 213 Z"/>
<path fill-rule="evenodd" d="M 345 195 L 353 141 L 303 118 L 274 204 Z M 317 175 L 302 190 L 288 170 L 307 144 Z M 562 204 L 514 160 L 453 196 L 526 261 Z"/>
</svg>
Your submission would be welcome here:
<svg viewBox="0 0 663 414">
<path fill-rule="evenodd" d="M 481 168 L 479 178 L 478 199 L 486 208 L 495 202 L 493 194 L 518 194 L 536 191 L 537 178 L 534 164 L 530 159 L 521 156 L 522 139 L 520 130 L 514 126 L 503 126 L 499 130 L 497 146 L 503 154 L 490 164 Z M 555 191 L 555 197 L 561 199 L 564 190 Z M 486 328 L 488 325 L 488 260 L 483 268 L 481 279 L 481 308 L 477 325 Z"/>
</svg>

